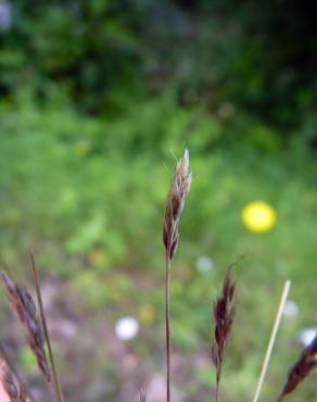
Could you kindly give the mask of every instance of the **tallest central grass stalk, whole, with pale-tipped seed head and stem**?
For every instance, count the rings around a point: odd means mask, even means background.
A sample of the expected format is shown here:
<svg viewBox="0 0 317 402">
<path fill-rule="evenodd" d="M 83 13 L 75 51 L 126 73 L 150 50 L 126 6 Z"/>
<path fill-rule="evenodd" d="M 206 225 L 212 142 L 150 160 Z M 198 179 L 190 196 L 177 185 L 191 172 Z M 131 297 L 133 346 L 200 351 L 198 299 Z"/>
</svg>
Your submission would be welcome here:
<svg viewBox="0 0 317 402">
<path fill-rule="evenodd" d="M 176 164 L 174 177 L 167 194 L 163 223 L 163 242 L 165 246 L 165 328 L 166 328 L 166 401 L 170 401 L 170 318 L 169 285 L 170 264 L 178 244 L 178 227 L 185 201 L 191 186 L 189 173 L 189 152 L 185 150 L 182 159 Z"/>
</svg>

